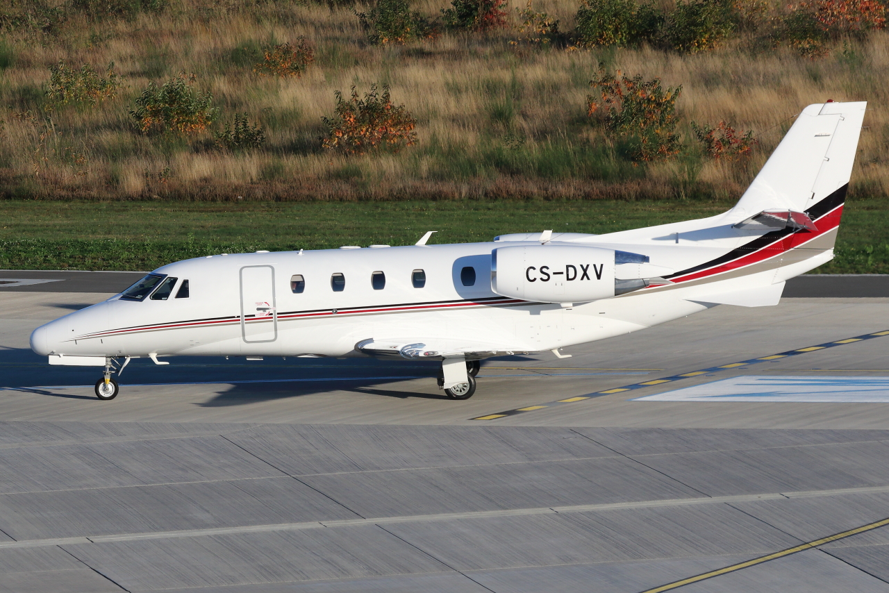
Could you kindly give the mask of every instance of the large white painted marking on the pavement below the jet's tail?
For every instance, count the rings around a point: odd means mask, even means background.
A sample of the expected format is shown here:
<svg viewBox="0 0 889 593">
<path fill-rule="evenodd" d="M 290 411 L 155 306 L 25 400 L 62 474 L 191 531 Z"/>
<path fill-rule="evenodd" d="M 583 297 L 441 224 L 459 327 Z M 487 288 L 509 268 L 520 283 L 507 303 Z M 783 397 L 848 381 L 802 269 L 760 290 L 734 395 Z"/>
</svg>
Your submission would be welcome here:
<svg viewBox="0 0 889 593">
<path fill-rule="evenodd" d="M 753 375 L 637 397 L 634 401 L 889 403 L 889 377 Z"/>
</svg>

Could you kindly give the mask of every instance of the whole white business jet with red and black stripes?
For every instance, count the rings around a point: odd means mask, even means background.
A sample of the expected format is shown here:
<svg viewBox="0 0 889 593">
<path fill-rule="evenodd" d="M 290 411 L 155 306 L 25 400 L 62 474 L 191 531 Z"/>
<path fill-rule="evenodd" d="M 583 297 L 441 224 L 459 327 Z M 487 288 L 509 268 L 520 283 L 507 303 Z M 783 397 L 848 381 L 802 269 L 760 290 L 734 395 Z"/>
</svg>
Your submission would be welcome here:
<svg viewBox="0 0 889 593">
<path fill-rule="evenodd" d="M 490 243 L 222 253 L 157 268 L 108 301 L 38 327 L 50 365 L 104 367 L 99 399 L 132 358 L 390 357 L 441 363 L 447 397 L 479 361 L 562 349 L 716 305 L 765 307 L 831 260 L 865 102 L 810 105 L 728 212 L 607 235 Z"/>
</svg>

